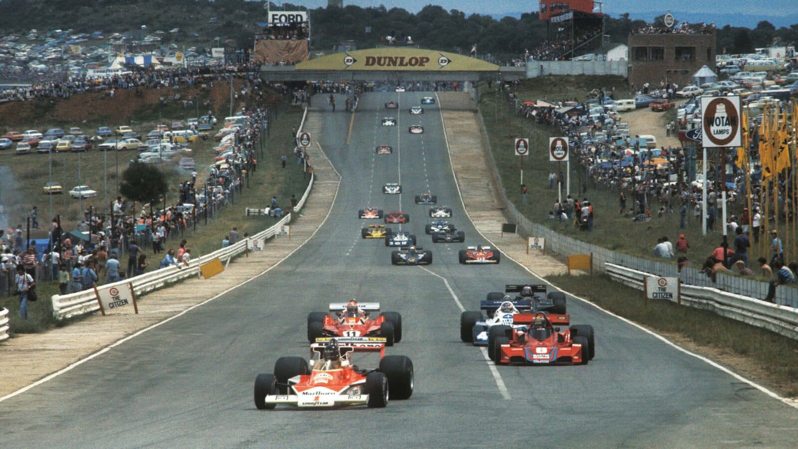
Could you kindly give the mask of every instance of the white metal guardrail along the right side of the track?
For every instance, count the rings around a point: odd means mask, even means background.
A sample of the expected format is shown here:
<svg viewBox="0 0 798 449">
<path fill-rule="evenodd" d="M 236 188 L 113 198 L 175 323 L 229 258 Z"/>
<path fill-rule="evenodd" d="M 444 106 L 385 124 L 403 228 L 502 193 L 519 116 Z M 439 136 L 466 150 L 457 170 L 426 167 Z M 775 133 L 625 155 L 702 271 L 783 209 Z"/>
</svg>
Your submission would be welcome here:
<svg viewBox="0 0 798 449">
<path fill-rule="evenodd" d="M 638 290 L 643 290 L 646 277 L 659 277 L 610 263 L 605 263 L 604 268 L 606 274 L 613 280 Z M 676 298 L 673 299 L 674 302 L 676 300 Z M 717 315 L 758 328 L 765 328 L 792 340 L 798 340 L 798 309 L 796 308 L 755 300 L 717 288 L 688 284 L 681 284 L 681 304 L 709 310 Z"/>
</svg>

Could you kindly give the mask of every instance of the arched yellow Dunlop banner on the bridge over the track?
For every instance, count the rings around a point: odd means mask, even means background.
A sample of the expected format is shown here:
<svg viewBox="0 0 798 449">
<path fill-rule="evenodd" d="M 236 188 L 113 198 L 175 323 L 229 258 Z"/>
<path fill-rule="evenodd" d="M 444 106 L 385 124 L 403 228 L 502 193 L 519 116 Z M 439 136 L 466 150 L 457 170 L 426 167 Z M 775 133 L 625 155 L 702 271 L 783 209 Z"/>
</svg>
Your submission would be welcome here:
<svg viewBox="0 0 798 449">
<path fill-rule="evenodd" d="M 297 65 L 297 70 L 395 70 L 492 72 L 499 66 L 462 54 L 416 48 L 375 48 L 330 54 Z"/>
</svg>

